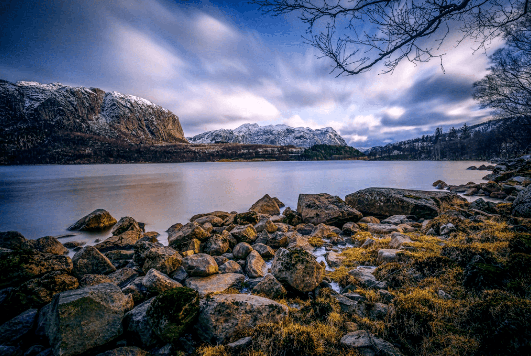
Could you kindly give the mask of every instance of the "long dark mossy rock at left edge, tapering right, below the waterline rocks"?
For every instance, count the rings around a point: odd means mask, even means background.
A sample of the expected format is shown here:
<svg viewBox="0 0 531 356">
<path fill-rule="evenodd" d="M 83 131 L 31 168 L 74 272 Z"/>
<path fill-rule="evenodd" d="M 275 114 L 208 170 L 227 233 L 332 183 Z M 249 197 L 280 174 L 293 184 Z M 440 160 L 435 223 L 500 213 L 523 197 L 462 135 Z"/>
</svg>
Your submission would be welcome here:
<svg viewBox="0 0 531 356">
<path fill-rule="evenodd" d="M 0 287 L 20 284 L 48 272 L 72 272 L 72 259 L 36 250 L 14 250 L 0 259 Z"/>
</svg>

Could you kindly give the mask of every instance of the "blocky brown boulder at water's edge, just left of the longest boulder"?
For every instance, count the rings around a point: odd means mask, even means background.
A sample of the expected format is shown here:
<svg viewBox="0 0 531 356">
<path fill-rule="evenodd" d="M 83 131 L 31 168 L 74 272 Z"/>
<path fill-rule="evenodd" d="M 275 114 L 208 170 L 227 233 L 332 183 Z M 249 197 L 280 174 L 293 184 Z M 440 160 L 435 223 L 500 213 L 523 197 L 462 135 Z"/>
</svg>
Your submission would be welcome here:
<svg viewBox="0 0 531 356">
<path fill-rule="evenodd" d="M 362 213 L 347 205 L 336 195 L 301 194 L 299 195 L 297 212 L 301 214 L 303 222 L 318 225 L 324 223 L 342 227 L 349 221 L 363 218 Z"/>
</svg>

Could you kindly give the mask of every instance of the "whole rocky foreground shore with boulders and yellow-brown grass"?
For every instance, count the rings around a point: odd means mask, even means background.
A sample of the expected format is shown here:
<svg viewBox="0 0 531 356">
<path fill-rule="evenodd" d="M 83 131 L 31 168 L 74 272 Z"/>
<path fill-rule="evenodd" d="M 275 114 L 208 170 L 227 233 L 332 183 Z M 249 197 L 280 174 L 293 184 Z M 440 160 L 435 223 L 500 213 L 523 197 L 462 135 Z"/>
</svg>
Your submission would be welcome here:
<svg viewBox="0 0 531 356">
<path fill-rule="evenodd" d="M 94 246 L 0 232 L 0 355 L 529 354 L 530 168 L 282 214 L 265 195 L 172 225 L 169 246 L 103 209 L 71 227 L 113 227 Z"/>
</svg>

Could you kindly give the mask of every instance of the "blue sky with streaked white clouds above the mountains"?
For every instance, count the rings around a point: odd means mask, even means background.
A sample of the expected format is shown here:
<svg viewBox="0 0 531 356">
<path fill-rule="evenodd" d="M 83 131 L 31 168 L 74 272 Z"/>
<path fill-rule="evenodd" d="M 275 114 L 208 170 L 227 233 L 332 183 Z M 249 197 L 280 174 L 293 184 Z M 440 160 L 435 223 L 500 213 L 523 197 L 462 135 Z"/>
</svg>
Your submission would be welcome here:
<svg viewBox="0 0 531 356">
<path fill-rule="evenodd" d="M 297 14 L 245 1 L 7 0 L 0 79 L 60 82 L 142 97 L 173 111 L 186 137 L 245 123 L 332 127 L 357 148 L 490 119 L 472 99 L 487 52 L 458 37 L 438 59 L 346 77 L 303 42 Z"/>
</svg>

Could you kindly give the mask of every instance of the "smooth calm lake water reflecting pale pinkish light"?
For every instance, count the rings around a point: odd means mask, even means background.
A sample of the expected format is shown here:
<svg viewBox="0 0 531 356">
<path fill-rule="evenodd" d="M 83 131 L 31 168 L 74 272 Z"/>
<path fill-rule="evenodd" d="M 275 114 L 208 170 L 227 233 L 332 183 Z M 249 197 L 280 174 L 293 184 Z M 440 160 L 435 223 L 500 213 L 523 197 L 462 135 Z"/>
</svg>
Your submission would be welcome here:
<svg viewBox="0 0 531 356">
<path fill-rule="evenodd" d="M 488 172 L 466 170 L 473 161 L 325 161 L 97 164 L 0 167 L 0 231 L 27 238 L 58 236 L 93 210 L 116 219 L 133 216 L 147 231 L 213 210 L 247 211 L 264 194 L 297 207 L 301 193 L 345 198 L 368 187 L 434 190 L 432 183 L 480 183 Z M 61 241 L 110 236 L 82 233 Z"/>
</svg>

